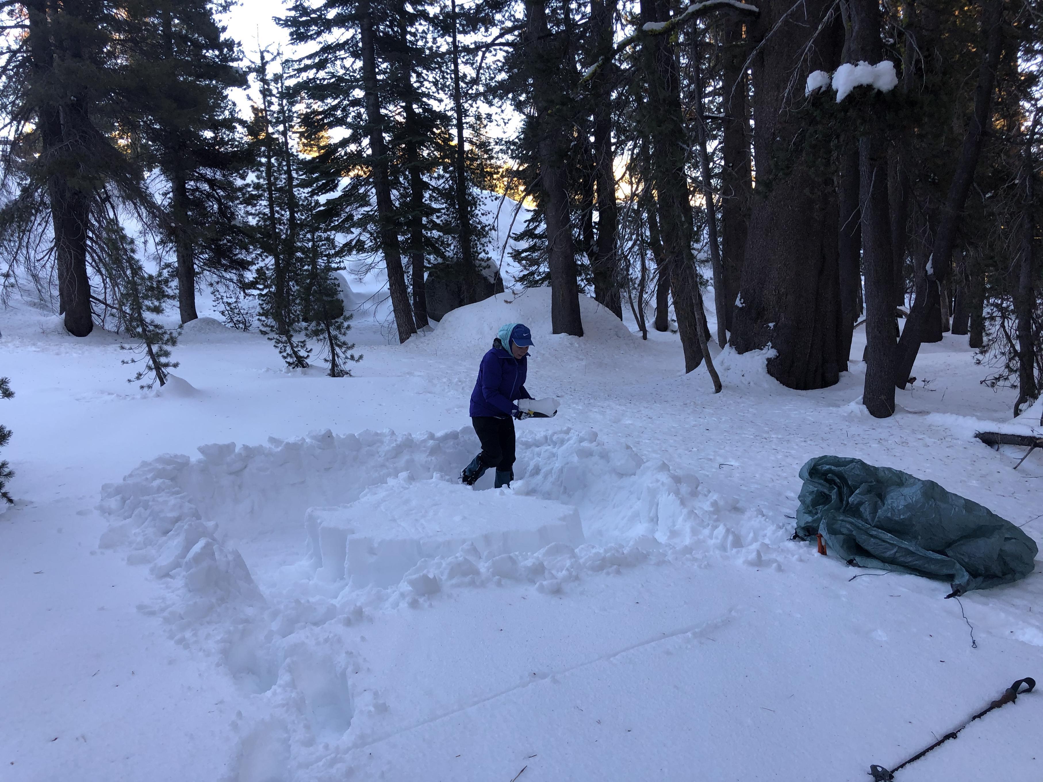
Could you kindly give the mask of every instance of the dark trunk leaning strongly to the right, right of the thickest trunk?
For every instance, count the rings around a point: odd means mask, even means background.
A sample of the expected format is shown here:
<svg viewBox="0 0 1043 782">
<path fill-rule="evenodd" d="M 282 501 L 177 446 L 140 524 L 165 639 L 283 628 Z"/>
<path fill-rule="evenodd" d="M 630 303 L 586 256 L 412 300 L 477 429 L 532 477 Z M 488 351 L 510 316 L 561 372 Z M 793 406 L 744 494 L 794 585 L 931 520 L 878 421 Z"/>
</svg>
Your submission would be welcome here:
<svg viewBox="0 0 1043 782">
<path fill-rule="evenodd" d="M 935 235 L 931 262 L 927 270 L 927 294 L 919 296 L 913 303 L 905 329 L 899 345 L 899 358 L 895 373 L 895 384 L 905 388 L 905 383 L 916 363 L 920 343 L 926 342 L 925 326 L 932 320 L 933 306 L 939 302 L 938 280 L 944 280 L 952 258 L 956 239 L 956 227 L 961 213 L 967 201 L 974 171 L 977 168 L 981 145 L 992 117 L 992 93 L 996 82 L 996 67 L 1003 44 L 1003 0 L 987 0 L 981 15 L 981 67 L 978 70 L 977 87 L 974 91 L 974 114 L 964 137 L 964 145 L 956 164 L 955 173 L 949 185 L 942 219 Z M 929 327 L 929 326 L 928 326 Z M 939 335 L 940 337 L 940 335 Z"/>
</svg>

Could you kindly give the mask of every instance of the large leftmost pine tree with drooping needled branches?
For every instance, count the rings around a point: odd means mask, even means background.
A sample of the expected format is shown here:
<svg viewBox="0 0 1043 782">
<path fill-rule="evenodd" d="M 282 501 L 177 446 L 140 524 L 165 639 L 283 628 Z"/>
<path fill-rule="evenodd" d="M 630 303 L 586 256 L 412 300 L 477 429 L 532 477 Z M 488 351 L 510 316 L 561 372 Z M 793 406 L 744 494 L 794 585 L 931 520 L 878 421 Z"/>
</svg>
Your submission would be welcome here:
<svg viewBox="0 0 1043 782">
<path fill-rule="evenodd" d="M 58 311 L 69 333 L 84 337 L 94 327 L 92 272 L 104 273 L 97 259 L 106 202 L 152 206 L 140 168 L 113 132 L 129 113 L 115 34 L 121 10 L 100 0 L 4 7 L 25 34 L 0 42 L 10 142 L 3 146 L 3 181 L 11 189 L 0 235 L 20 248 L 13 262 L 31 276 L 54 263 Z M 41 245 L 48 247 L 41 254 L 24 251 Z"/>
</svg>

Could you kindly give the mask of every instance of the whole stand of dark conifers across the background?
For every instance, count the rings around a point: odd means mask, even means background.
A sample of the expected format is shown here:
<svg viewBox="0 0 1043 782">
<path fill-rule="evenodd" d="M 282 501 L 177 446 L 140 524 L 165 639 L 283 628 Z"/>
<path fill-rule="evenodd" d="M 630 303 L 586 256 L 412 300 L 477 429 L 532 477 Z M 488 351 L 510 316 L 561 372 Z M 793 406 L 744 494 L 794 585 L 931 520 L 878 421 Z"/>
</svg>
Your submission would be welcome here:
<svg viewBox="0 0 1043 782">
<path fill-rule="evenodd" d="M 502 290 L 493 193 L 556 334 L 589 295 L 718 390 L 710 343 L 808 390 L 865 328 L 888 417 L 951 333 L 1040 394 L 1039 0 L 290 0 L 285 51 L 229 5 L 0 0 L 3 295 L 126 334 L 136 380 L 204 287 L 347 374 L 335 273 L 382 270 L 411 339 Z"/>
</svg>

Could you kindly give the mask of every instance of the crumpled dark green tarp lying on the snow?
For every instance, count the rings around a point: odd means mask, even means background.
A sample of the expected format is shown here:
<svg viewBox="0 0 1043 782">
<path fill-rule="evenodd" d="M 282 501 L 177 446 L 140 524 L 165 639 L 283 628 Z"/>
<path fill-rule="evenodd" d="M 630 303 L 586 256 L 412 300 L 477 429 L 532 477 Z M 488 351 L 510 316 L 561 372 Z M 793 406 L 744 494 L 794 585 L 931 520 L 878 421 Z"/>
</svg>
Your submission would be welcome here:
<svg viewBox="0 0 1043 782">
<path fill-rule="evenodd" d="M 1038 547 L 988 508 L 890 467 L 822 456 L 800 469 L 797 535 L 849 564 L 947 581 L 954 594 L 1022 579 Z"/>
</svg>

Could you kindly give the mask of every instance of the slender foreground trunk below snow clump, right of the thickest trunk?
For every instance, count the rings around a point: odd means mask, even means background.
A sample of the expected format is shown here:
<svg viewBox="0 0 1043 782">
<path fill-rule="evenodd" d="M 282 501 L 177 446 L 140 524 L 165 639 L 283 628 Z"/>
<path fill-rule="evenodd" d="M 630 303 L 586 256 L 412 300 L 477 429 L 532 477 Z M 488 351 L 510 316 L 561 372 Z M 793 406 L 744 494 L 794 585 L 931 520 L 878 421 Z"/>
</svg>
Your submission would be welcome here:
<svg viewBox="0 0 1043 782">
<path fill-rule="evenodd" d="M 878 0 L 851 0 L 853 32 L 850 55 L 854 63 L 881 59 Z M 867 123 L 858 139 L 863 266 L 866 273 L 866 383 L 863 404 L 875 418 L 895 413 L 894 364 L 898 336 L 895 327 L 895 259 L 891 250 L 888 202 L 888 154 L 883 128 Z"/>
</svg>

